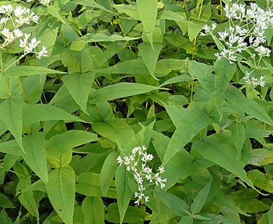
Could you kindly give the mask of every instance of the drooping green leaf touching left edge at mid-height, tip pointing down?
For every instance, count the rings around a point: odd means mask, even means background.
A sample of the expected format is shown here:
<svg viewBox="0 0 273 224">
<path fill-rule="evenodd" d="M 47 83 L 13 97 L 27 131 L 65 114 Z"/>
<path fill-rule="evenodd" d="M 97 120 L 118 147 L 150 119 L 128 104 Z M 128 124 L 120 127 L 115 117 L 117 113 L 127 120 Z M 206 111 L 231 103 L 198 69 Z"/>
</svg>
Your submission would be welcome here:
<svg viewBox="0 0 273 224">
<path fill-rule="evenodd" d="M 25 153 L 22 145 L 22 106 L 23 99 L 20 96 L 6 99 L 0 104 L 0 118 Z"/>
</svg>

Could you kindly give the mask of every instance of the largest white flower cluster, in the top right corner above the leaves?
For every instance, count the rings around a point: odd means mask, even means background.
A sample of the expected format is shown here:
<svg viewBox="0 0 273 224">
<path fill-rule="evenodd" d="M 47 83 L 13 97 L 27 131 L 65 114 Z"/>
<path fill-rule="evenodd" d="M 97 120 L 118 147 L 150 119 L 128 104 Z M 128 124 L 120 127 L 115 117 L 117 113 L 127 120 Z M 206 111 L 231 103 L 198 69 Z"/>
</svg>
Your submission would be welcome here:
<svg viewBox="0 0 273 224">
<path fill-rule="evenodd" d="M 218 32 L 218 39 L 224 43 L 220 53 L 216 53 L 216 57 L 221 59 L 227 58 L 230 63 L 236 61 L 236 53 L 241 53 L 243 50 L 252 49 L 258 53 L 258 65 L 262 57 L 269 57 L 271 50 L 263 47 L 265 43 L 265 31 L 273 25 L 272 10 L 263 10 L 256 3 L 250 3 L 250 6 L 245 4 L 227 3 L 225 5 L 225 16 L 228 18 L 230 27 L 225 31 Z M 237 22 L 235 22 L 235 20 Z M 201 35 L 211 35 L 216 38 L 213 33 L 216 29 L 216 24 L 211 27 L 205 25 L 204 33 Z M 255 54 L 251 51 L 251 57 L 255 58 Z"/>
</svg>

